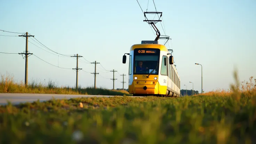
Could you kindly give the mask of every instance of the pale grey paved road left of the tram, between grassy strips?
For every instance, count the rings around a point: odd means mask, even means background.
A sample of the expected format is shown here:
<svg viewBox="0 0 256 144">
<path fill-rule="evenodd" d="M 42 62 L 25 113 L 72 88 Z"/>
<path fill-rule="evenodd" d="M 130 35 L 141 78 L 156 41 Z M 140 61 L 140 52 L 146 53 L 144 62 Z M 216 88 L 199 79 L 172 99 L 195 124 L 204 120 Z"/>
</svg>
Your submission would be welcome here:
<svg viewBox="0 0 256 144">
<path fill-rule="evenodd" d="M 34 102 L 39 99 L 40 102 L 47 101 L 53 97 L 56 99 L 62 98 L 75 98 L 75 97 L 113 97 L 108 95 L 61 95 L 61 94 L 12 94 L 12 93 L 0 93 L 0 105 L 6 105 L 7 101 L 12 104 L 19 104 L 25 102 Z"/>
</svg>

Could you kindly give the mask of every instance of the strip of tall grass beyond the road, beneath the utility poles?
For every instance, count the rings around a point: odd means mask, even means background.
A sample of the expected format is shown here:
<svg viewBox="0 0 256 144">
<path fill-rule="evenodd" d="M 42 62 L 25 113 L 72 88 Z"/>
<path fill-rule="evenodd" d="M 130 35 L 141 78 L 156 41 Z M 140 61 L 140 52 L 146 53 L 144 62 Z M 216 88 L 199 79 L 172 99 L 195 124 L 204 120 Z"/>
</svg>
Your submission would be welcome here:
<svg viewBox="0 0 256 144">
<path fill-rule="evenodd" d="M 24 85 L 24 82 L 14 82 L 13 77 L 10 75 L 1 75 L 0 81 L 0 93 L 34 93 L 34 94 L 74 94 L 74 95 L 126 95 L 131 96 L 128 91 L 125 90 L 110 90 L 106 88 L 94 88 L 78 87 L 78 91 L 75 87 L 58 87 L 57 82 L 49 80 L 48 83 L 43 84 L 37 80 L 31 80 L 28 86 Z"/>
</svg>

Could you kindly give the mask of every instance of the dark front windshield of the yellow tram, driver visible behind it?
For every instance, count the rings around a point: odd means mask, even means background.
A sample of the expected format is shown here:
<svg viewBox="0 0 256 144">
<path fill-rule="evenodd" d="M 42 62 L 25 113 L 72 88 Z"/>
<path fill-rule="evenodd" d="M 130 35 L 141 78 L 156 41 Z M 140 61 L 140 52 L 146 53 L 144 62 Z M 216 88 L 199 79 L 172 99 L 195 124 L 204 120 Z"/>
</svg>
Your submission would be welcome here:
<svg viewBox="0 0 256 144">
<path fill-rule="evenodd" d="M 134 74 L 158 74 L 159 55 L 135 55 Z"/>
</svg>

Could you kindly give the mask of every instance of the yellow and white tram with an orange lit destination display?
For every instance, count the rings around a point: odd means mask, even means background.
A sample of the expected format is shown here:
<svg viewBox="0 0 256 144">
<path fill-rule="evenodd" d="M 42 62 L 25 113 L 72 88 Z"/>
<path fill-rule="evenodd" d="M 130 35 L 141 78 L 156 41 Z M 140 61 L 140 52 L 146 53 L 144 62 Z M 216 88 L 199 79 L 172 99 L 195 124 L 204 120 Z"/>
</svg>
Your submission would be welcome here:
<svg viewBox="0 0 256 144">
<path fill-rule="evenodd" d="M 173 56 L 168 49 L 154 41 L 142 41 L 130 47 L 129 94 L 134 96 L 180 96 L 180 78 Z"/>
</svg>

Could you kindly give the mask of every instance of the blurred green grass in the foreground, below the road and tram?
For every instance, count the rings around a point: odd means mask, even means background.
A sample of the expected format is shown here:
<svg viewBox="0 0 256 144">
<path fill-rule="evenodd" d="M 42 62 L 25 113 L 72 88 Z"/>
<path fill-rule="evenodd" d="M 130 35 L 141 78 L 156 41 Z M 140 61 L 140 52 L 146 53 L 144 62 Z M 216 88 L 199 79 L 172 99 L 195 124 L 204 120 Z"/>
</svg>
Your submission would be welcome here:
<svg viewBox="0 0 256 144">
<path fill-rule="evenodd" d="M 237 80 L 229 91 L 180 98 L 9 103 L 0 107 L 0 143 L 256 143 L 256 80 L 252 79 L 241 90 Z"/>
</svg>

